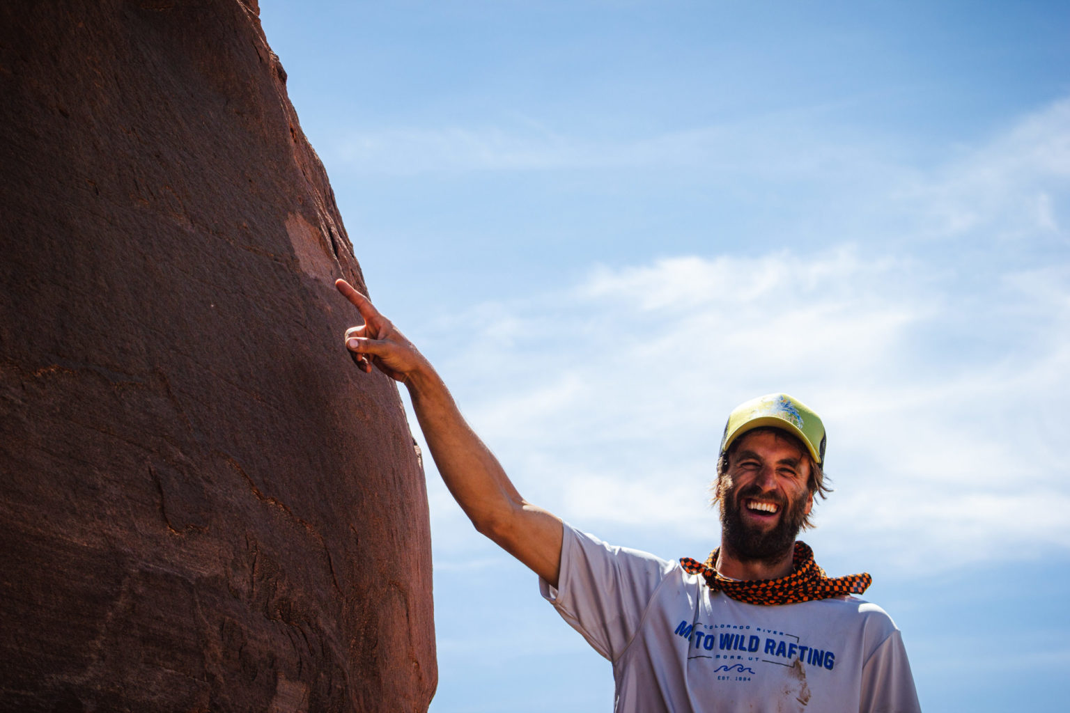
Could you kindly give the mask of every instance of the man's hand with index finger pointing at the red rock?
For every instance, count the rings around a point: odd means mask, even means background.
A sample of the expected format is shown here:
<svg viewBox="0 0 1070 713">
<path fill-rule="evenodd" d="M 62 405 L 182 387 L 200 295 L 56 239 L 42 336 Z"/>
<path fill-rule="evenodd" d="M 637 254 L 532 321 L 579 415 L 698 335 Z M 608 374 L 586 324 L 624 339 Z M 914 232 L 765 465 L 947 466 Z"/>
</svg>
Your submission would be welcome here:
<svg viewBox="0 0 1070 713">
<path fill-rule="evenodd" d="M 364 324 L 346 330 L 346 348 L 365 373 L 370 373 L 374 365 L 391 378 L 408 383 L 413 373 L 430 366 L 412 342 L 353 285 L 346 280 L 335 280 L 335 286 L 364 319 Z"/>
</svg>

